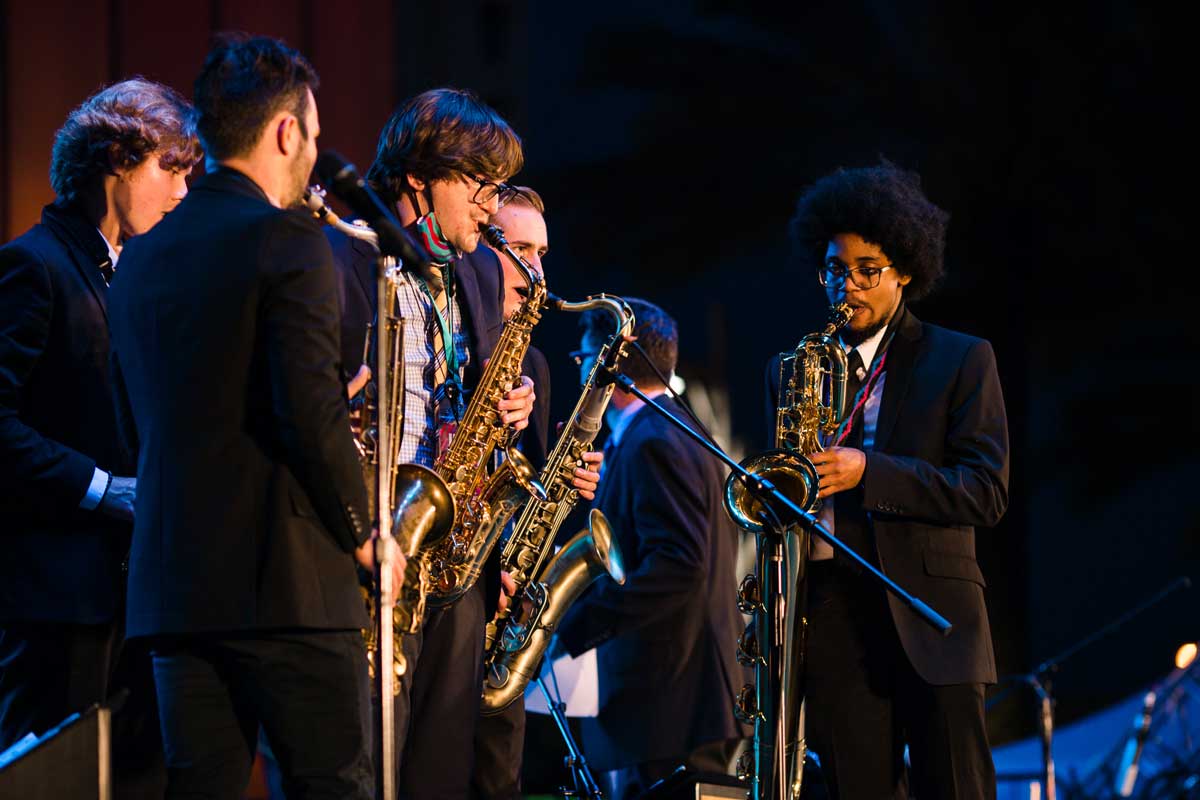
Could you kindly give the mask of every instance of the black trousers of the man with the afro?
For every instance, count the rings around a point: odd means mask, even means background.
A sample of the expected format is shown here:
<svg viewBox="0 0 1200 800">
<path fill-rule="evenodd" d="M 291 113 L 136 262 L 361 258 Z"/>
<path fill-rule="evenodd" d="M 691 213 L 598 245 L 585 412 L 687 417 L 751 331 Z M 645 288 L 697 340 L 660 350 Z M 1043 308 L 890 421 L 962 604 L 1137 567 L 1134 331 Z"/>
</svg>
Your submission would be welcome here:
<svg viewBox="0 0 1200 800">
<path fill-rule="evenodd" d="M 996 796 L 983 685 L 931 686 L 913 670 L 887 597 L 840 561 L 809 565 L 809 748 L 835 800 Z"/>
</svg>

